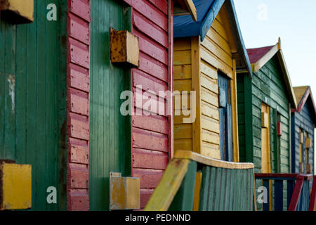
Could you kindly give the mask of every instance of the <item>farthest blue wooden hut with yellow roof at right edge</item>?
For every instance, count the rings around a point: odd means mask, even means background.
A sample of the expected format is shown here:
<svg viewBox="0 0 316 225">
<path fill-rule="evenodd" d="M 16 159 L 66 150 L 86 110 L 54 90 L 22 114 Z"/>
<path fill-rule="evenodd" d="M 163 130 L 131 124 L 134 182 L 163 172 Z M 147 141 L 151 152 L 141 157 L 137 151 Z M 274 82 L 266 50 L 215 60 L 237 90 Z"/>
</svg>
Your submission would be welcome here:
<svg viewBox="0 0 316 225">
<path fill-rule="evenodd" d="M 295 86 L 297 110 L 291 113 L 291 172 L 315 174 L 316 108 L 310 86 Z"/>
</svg>

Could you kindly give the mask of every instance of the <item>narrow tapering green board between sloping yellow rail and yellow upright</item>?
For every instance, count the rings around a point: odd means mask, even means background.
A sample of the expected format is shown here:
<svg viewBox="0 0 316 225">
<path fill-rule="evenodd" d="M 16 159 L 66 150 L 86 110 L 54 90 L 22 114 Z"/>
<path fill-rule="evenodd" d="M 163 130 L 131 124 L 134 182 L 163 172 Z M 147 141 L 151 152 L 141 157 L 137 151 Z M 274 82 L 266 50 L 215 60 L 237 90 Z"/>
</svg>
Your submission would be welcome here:
<svg viewBox="0 0 316 225">
<path fill-rule="evenodd" d="M 195 198 L 195 177 L 197 175 L 197 162 L 190 162 L 187 174 L 182 181 L 178 193 L 169 207 L 169 211 L 192 211 Z"/>
</svg>

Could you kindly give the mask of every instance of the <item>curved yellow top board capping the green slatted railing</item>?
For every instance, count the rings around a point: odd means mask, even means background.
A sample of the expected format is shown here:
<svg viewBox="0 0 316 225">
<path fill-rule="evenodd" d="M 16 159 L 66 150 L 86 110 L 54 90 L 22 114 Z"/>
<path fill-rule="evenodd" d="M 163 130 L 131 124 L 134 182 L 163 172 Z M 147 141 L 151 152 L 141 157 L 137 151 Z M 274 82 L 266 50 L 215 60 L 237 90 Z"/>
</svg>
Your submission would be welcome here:
<svg viewBox="0 0 316 225">
<path fill-rule="evenodd" d="M 203 155 L 199 155 L 189 150 L 177 150 L 174 158 L 193 160 L 195 162 L 202 163 L 211 167 L 218 167 L 224 169 L 253 169 L 254 163 L 250 162 L 225 162 L 222 160 L 216 160 Z"/>
</svg>

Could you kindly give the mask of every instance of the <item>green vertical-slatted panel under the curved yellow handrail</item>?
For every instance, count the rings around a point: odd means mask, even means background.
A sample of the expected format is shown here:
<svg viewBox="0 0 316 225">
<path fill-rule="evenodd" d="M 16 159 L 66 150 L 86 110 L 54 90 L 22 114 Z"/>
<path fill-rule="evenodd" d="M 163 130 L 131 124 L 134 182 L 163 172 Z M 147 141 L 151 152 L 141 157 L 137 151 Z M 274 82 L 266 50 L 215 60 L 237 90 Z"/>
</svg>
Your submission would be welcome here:
<svg viewBox="0 0 316 225">
<path fill-rule="evenodd" d="M 254 210 L 253 169 L 204 166 L 199 200 L 201 211 Z"/>
</svg>

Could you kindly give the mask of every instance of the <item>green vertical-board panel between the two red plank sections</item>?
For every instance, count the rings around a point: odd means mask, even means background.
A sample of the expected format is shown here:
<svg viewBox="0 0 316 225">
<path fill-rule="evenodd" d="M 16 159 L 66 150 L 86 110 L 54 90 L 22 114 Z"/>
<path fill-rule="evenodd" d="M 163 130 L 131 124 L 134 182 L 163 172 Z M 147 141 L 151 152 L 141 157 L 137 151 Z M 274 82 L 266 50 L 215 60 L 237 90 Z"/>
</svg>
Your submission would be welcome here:
<svg viewBox="0 0 316 225">
<path fill-rule="evenodd" d="M 110 63 L 110 27 L 130 30 L 131 11 L 114 0 L 91 1 L 89 198 L 91 210 L 109 210 L 109 174 L 131 176 L 130 117 L 120 113 L 130 70 Z"/>
</svg>

